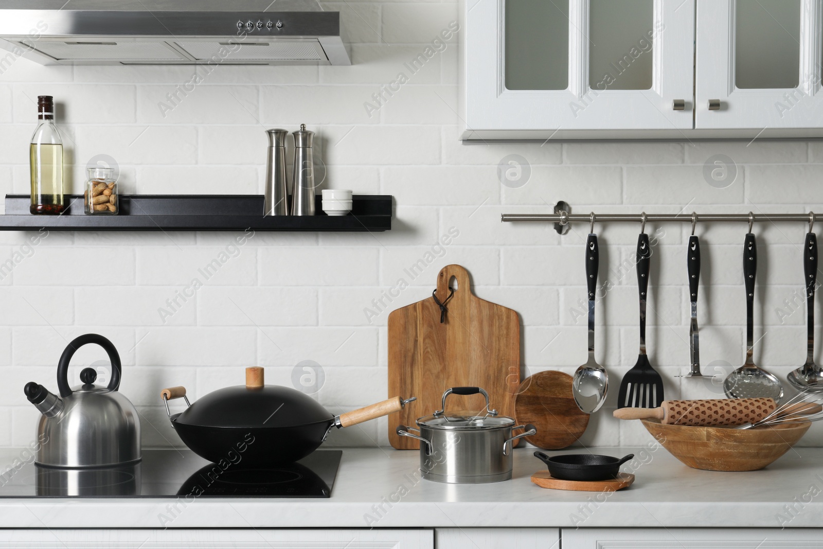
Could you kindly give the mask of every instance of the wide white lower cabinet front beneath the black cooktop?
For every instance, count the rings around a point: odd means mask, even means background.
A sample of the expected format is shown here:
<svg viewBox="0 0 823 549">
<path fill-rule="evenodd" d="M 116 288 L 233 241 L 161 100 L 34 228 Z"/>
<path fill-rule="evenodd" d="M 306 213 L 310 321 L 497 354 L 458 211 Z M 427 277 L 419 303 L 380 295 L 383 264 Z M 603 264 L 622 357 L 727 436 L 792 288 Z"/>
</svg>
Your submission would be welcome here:
<svg viewBox="0 0 823 549">
<path fill-rule="evenodd" d="M 38 549 L 434 549 L 435 533 L 415 530 L 168 529 L 2 530 L 0 547 Z"/>
</svg>

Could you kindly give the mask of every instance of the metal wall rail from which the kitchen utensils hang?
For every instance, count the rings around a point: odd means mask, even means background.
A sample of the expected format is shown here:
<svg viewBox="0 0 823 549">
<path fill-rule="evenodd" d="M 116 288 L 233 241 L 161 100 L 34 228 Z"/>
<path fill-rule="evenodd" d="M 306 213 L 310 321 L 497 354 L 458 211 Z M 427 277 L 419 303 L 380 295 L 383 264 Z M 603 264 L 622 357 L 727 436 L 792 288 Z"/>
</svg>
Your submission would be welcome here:
<svg viewBox="0 0 823 549">
<path fill-rule="evenodd" d="M 809 213 L 569 213 L 565 210 L 556 208 L 556 213 L 504 213 L 500 216 L 500 220 L 504 223 L 514 221 L 542 221 L 547 223 L 554 223 L 555 228 L 560 232 L 560 229 L 568 228 L 570 223 L 611 223 L 616 221 L 625 221 L 630 223 L 641 223 L 645 225 L 647 222 L 667 222 L 680 221 L 681 223 L 691 223 L 692 226 L 699 222 L 715 222 L 715 221 L 742 221 L 749 224 L 751 232 L 751 225 L 753 223 L 764 223 L 771 221 L 798 221 L 809 224 L 809 230 L 814 226 L 816 216 L 814 212 Z M 562 234 L 562 233 L 561 233 Z"/>
</svg>

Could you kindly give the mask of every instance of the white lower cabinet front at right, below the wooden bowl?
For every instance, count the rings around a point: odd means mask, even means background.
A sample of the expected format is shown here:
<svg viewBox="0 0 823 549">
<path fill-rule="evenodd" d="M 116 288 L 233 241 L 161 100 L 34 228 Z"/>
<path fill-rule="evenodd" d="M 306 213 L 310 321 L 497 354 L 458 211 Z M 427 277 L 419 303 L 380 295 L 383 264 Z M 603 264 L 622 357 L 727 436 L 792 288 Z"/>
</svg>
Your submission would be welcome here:
<svg viewBox="0 0 823 549">
<path fill-rule="evenodd" d="M 823 528 L 563 528 L 563 549 L 821 549 Z M 548 547 L 548 546 L 546 546 Z"/>
</svg>

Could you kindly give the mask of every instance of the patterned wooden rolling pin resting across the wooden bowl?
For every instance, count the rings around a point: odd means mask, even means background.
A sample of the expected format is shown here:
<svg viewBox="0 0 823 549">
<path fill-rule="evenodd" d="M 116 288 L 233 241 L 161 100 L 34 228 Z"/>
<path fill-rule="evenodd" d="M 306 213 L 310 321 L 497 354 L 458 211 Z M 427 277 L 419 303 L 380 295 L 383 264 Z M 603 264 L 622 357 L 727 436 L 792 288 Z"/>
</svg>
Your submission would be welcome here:
<svg viewBox="0 0 823 549">
<path fill-rule="evenodd" d="M 614 416 L 621 420 L 658 419 L 665 425 L 738 426 L 760 421 L 776 407 L 771 398 L 664 400 L 659 408 L 620 408 Z M 815 413 L 819 408 L 819 404 L 797 402 L 779 415 Z"/>
</svg>

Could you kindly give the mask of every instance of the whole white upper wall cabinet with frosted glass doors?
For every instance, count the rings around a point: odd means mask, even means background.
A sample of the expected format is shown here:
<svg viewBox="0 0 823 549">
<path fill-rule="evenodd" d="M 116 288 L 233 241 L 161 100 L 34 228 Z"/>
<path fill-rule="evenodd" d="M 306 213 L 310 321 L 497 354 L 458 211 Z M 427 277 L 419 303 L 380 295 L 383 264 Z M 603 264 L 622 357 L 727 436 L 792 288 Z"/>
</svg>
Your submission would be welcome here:
<svg viewBox="0 0 823 549">
<path fill-rule="evenodd" d="M 823 137 L 823 0 L 467 0 L 461 138 Z"/>
</svg>

